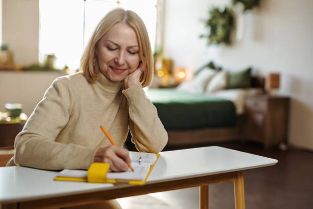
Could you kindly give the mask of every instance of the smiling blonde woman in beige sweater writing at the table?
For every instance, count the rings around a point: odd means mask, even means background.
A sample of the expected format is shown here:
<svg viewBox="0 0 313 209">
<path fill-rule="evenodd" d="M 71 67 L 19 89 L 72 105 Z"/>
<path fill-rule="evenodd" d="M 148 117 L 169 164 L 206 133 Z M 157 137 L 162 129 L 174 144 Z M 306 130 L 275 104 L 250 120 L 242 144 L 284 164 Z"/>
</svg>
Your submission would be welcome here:
<svg viewBox="0 0 313 209">
<path fill-rule="evenodd" d="M 142 20 L 132 11 L 112 10 L 96 27 L 81 72 L 56 79 L 46 91 L 17 135 L 8 165 L 61 170 L 106 162 L 112 171 L 125 171 L 130 159 L 122 146 L 128 128 L 138 151 L 160 152 L 167 132 L 142 90 L 152 76 Z M 117 146 L 110 144 L 100 125 Z"/>
</svg>

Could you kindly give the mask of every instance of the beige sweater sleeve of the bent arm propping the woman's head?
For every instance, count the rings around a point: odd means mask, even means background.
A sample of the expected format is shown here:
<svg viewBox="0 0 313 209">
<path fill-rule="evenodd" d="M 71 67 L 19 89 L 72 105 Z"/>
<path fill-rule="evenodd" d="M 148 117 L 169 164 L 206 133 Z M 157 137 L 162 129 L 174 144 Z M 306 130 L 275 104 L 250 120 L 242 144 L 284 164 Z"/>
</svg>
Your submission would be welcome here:
<svg viewBox="0 0 313 209">
<path fill-rule="evenodd" d="M 129 129 L 131 141 L 140 152 L 159 153 L 168 142 L 158 112 L 145 96 L 140 84 L 122 91 L 129 104 Z"/>
</svg>

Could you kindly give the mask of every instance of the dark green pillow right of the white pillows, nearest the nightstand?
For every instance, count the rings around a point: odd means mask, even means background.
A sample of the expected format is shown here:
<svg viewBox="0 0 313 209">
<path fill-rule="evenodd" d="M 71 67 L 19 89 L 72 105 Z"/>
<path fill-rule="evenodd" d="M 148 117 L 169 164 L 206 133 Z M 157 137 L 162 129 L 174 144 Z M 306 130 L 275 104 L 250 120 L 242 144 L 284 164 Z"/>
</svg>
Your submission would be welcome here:
<svg viewBox="0 0 313 209">
<path fill-rule="evenodd" d="M 240 72 L 228 74 L 227 89 L 240 89 L 251 87 L 251 67 Z"/>
</svg>

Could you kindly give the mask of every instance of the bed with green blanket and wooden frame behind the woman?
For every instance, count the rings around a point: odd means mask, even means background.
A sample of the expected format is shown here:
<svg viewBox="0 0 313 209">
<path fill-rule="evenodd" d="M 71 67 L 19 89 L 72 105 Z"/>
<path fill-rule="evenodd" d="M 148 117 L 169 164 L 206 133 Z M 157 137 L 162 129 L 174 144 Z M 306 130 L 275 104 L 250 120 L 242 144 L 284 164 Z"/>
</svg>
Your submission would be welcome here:
<svg viewBox="0 0 313 209">
<path fill-rule="evenodd" d="M 168 131 L 168 147 L 194 146 L 241 139 L 246 95 L 263 91 L 260 79 L 253 88 L 226 89 L 209 94 L 193 94 L 176 88 L 148 89 Z"/>
</svg>

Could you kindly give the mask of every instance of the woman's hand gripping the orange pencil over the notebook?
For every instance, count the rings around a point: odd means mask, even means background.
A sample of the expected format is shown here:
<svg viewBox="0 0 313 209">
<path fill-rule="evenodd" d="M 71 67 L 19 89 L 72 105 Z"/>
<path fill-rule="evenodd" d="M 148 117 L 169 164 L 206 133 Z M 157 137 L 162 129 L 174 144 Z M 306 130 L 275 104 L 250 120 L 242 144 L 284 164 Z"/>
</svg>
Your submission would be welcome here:
<svg viewBox="0 0 313 209">
<path fill-rule="evenodd" d="M 95 154 L 94 162 L 109 163 L 109 172 L 126 171 L 130 164 L 129 152 L 127 149 L 115 145 L 99 148 Z"/>
</svg>

